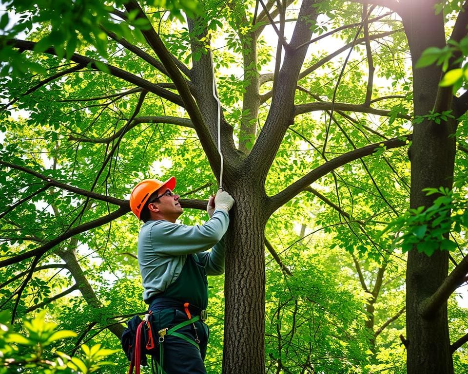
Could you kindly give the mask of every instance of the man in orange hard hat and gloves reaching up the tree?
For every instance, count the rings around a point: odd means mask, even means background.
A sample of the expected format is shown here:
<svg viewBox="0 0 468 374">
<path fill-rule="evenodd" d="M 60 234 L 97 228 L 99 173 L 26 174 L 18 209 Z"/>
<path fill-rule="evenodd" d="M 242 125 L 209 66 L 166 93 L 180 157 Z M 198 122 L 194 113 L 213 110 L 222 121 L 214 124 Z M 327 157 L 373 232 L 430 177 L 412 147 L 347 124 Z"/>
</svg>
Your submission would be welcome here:
<svg viewBox="0 0 468 374">
<path fill-rule="evenodd" d="M 143 300 L 150 305 L 154 339 L 163 347 L 165 373 L 203 374 L 209 337 L 206 275 L 224 273 L 223 236 L 234 199 L 219 189 L 208 201 L 205 224 L 176 224 L 183 209 L 175 187 L 174 177 L 146 179 L 130 195 L 132 211 L 144 222 L 138 235 Z"/>
</svg>

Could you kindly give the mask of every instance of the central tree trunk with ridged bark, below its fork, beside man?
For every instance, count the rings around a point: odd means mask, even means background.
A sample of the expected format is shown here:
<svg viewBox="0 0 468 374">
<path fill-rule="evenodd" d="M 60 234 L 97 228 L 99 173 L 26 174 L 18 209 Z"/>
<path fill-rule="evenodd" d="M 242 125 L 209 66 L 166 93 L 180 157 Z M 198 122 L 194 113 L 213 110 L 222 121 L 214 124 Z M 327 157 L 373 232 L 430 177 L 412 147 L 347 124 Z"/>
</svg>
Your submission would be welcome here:
<svg viewBox="0 0 468 374">
<path fill-rule="evenodd" d="M 248 180 L 226 189 L 235 203 L 227 234 L 223 373 L 264 374 L 266 219 L 262 198 L 259 188 Z"/>
</svg>

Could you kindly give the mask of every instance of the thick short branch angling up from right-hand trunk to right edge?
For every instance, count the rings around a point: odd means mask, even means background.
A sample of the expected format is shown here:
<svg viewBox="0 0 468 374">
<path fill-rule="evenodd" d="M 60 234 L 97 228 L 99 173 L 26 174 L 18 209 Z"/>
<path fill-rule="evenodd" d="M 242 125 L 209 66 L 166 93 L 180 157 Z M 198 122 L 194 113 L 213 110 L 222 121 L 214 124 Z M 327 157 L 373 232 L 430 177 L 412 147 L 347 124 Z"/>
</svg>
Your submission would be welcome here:
<svg viewBox="0 0 468 374">
<path fill-rule="evenodd" d="M 447 302 L 450 295 L 462 284 L 468 273 L 468 257 L 464 257 L 462 261 L 452 270 L 445 281 L 439 288 L 420 306 L 421 316 L 431 318 L 437 313 L 439 308 Z"/>
</svg>

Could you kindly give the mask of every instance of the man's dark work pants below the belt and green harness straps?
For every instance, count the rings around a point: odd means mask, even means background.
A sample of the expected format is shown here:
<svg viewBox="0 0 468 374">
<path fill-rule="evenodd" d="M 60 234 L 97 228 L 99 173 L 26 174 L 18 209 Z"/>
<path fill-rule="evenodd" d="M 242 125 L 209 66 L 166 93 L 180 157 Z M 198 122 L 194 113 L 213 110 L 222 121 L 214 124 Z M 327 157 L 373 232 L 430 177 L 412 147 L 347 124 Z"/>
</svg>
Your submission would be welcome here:
<svg viewBox="0 0 468 374">
<path fill-rule="evenodd" d="M 156 312 L 156 311 L 155 311 Z M 155 313 L 154 312 L 154 313 Z M 162 312 L 164 313 L 164 312 Z M 180 322 L 187 320 L 187 315 L 179 310 L 176 310 L 175 317 L 169 326 L 172 327 Z M 157 312 L 155 313 L 157 315 Z M 203 360 L 206 355 L 206 346 L 208 344 L 208 326 L 202 321 L 195 322 L 196 335 L 200 340 L 198 350 L 193 344 L 175 336 L 165 336 L 163 346 L 163 369 L 166 374 L 206 374 Z M 158 327 L 158 330 L 160 327 Z M 158 331 L 156 330 L 156 332 Z M 177 330 L 179 334 L 183 334 L 195 341 L 195 329 L 192 324 L 182 327 Z M 154 357 L 159 361 L 159 355 Z"/>
</svg>

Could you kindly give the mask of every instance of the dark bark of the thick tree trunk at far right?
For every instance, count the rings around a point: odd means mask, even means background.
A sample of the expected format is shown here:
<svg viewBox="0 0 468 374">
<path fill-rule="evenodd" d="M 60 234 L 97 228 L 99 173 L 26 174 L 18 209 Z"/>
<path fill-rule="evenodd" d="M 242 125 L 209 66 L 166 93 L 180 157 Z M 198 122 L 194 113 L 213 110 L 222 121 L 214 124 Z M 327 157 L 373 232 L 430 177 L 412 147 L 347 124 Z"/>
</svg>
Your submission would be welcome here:
<svg viewBox="0 0 468 374">
<path fill-rule="evenodd" d="M 434 14 L 436 1 L 408 1 L 402 6 L 402 19 L 413 63 L 414 115 L 427 115 L 434 108 L 441 70 L 439 66 L 415 68 L 421 53 L 428 47 L 445 45 L 442 14 Z M 442 108 L 442 110 L 448 110 Z M 441 111 L 440 109 L 438 111 Z M 414 124 L 410 147 L 410 207 L 428 207 L 435 195 L 427 196 L 427 187 L 452 187 L 455 156 L 453 123 L 436 124 L 425 120 Z M 448 234 L 448 233 L 447 233 Z M 428 317 L 421 306 L 446 279 L 448 252 L 432 256 L 409 251 L 407 264 L 407 371 L 408 374 L 452 374 L 453 362 L 448 335 L 447 302 Z"/>
</svg>

